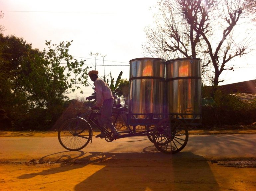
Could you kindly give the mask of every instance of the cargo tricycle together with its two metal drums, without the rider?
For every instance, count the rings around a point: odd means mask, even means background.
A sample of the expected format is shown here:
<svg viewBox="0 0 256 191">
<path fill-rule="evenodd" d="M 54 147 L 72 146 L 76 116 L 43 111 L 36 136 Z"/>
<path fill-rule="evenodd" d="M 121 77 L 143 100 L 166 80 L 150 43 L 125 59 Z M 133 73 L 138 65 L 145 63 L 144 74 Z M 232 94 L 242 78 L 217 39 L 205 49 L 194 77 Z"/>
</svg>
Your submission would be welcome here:
<svg viewBox="0 0 256 191">
<path fill-rule="evenodd" d="M 113 124 L 121 118 L 126 126 L 116 139 L 147 136 L 159 151 L 178 153 L 188 142 L 188 127 L 201 123 L 200 105 L 200 59 L 130 60 L 129 111 L 114 107 L 112 112 Z M 110 130 L 98 123 L 99 115 L 90 110 L 65 121 L 58 131 L 60 144 L 70 151 L 83 149 L 92 143 L 92 123 L 106 134 L 106 141 L 114 141 Z"/>
</svg>

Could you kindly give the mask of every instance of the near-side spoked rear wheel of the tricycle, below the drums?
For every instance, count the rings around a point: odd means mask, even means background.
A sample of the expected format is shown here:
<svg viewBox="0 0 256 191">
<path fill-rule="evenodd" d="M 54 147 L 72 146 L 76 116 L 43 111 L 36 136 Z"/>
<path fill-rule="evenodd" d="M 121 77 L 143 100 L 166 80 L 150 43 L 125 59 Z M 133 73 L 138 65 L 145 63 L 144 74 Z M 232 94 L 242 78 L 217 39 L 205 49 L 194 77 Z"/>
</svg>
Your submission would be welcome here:
<svg viewBox="0 0 256 191">
<path fill-rule="evenodd" d="M 163 119 L 155 127 L 152 139 L 159 151 L 175 154 L 184 149 L 189 139 L 189 133 L 182 121 L 175 118 Z"/>
</svg>

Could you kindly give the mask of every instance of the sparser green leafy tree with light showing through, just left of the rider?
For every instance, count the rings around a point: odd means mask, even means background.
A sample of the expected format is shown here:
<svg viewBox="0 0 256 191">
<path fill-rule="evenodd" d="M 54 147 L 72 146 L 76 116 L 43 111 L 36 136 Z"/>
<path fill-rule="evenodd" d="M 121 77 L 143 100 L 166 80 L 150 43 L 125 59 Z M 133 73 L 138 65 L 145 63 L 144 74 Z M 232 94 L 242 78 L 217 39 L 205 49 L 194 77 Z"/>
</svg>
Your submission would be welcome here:
<svg viewBox="0 0 256 191">
<path fill-rule="evenodd" d="M 33 83 L 31 97 L 37 99 L 40 107 L 47 108 L 46 120 L 57 120 L 68 100 L 67 95 L 80 89 L 80 85 L 87 86 L 88 67 L 84 67 L 85 60 L 78 62 L 68 53 L 71 42 L 57 45 L 46 41 L 48 49 L 45 48 L 39 57 L 43 60 L 31 65 L 34 68 L 28 78 Z"/>
</svg>

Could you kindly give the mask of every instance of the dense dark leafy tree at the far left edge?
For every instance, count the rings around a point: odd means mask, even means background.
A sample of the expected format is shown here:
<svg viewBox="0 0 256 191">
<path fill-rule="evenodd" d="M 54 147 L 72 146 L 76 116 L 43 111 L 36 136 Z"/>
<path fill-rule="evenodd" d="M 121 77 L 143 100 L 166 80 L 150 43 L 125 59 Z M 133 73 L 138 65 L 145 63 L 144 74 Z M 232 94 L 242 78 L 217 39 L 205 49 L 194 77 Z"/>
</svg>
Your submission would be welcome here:
<svg viewBox="0 0 256 191">
<path fill-rule="evenodd" d="M 27 114 L 35 107 L 30 93 L 33 87 L 26 79 L 39 54 L 23 38 L 0 34 L 0 108 L 16 126 L 29 121 Z"/>
</svg>

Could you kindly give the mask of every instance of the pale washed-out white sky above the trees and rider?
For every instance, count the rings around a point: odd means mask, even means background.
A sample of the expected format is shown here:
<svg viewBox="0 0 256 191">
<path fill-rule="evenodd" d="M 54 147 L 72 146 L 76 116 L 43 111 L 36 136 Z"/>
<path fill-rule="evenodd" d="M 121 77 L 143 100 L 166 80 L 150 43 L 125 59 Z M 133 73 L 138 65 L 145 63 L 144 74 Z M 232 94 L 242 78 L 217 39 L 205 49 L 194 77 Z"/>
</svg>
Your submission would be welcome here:
<svg viewBox="0 0 256 191">
<path fill-rule="evenodd" d="M 144 27 L 152 24 L 153 8 L 158 0 L 0 0 L 0 11 L 4 18 L 4 34 L 23 37 L 33 48 L 46 48 L 45 40 L 53 43 L 73 40 L 70 54 L 77 60 L 86 59 L 94 64 L 90 52 L 106 55 L 105 74 L 110 71 L 116 79 L 120 71 L 122 78 L 129 79 L 129 60 L 151 57 L 144 54 L 142 44 L 146 42 Z M 98 59 L 102 59 L 99 55 Z M 225 83 L 241 82 L 256 78 L 255 52 L 234 63 L 235 72 L 223 73 Z M 97 60 L 98 65 L 103 61 Z M 111 65 L 111 66 L 110 66 Z M 93 67 L 93 66 L 92 66 Z M 92 68 L 94 69 L 94 68 Z M 103 67 L 96 66 L 103 76 Z M 89 80 L 90 82 L 90 80 Z M 222 84 L 222 85 L 223 85 Z M 84 95 L 93 93 L 91 86 L 83 87 Z M 73 97 L 71 97 L 73 98 Z"/>
</svg>

